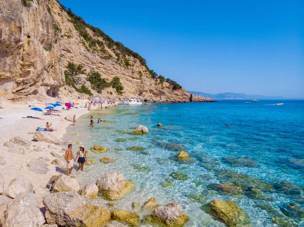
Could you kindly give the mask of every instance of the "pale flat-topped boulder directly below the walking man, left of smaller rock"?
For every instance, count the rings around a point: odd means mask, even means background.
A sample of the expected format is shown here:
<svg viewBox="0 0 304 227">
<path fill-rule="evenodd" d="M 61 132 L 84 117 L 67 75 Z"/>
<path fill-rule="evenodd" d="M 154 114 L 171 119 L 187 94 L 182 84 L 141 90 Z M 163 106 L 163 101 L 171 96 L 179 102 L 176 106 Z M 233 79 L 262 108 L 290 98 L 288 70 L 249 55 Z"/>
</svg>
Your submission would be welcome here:
<svg viewBox="0 0 304 227">
<path fill-rule="evenodd" d="M 59 174 L 52 186 L 52 193 L 55 192 L 78 192 L 79 184 L 77 179 L 64 174 Z"/>
</svg>

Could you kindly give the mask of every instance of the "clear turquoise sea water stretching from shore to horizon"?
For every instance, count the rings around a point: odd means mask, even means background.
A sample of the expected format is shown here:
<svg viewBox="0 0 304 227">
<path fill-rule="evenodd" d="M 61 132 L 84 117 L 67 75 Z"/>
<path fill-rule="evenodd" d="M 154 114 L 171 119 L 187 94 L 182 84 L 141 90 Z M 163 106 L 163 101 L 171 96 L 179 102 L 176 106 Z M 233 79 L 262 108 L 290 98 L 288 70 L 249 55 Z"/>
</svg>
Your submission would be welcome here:
<svg viewBox="0 0 304 227">
<path fill-rule="evenodd" d="M 79 137 L 67 134 L 65 139 L 80 141 L 87 150 L 97 144 L 108 148 L 102 154 L 91 152 L 89 157 L 96 164 L 74 173 L 84 186 L 95 183 L 107 171 L 121 172 L 135 190 L 115 201 L 117 208 L 131 211 L 132 202 L 143 204 L 155 197 L 161 205 L 180 203 L 191 219 L 185 226 L 224 226 L 205 213 L 204 205 L 225 199 L 246 210 L 252 226 L 304 226 L 304 101 L 275 103 L 120 106 L 113 111 L 93 111 L 95 128 L 88 124 L 89 115 L 83 116 L 68 130 Z M 108 122 L 97 124 L 98 117 Z M 149 133 L 130 134 L 139 124 L 147 126 Z M 144 151 L 126 150 L 132 146 Z M 182 150 L 194 162 L 178 161 L 175 156 Z M 104 156 L 117 162 L 99 162 Z M 184 173 L 185 180 L 174 179 L 172 172 Z M 219 191 L 217 183 L 233 184 L 241 190 L 233 194 Z M 101 205 L 107 202 L 94 200 Z"/>
</svg>

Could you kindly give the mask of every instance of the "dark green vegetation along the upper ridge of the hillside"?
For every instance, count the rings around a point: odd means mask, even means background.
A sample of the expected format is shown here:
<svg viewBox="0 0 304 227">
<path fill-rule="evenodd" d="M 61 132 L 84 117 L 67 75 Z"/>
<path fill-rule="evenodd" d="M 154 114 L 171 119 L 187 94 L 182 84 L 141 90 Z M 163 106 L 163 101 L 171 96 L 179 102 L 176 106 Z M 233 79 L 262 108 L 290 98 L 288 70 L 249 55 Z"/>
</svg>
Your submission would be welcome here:
<svg viewBox="0 0 304 227">
<path fill-rule="evenodd" d="M 22 1 L 29 1 L 29 0 L 22 0 Z M 124 63 L 126 67 L 133 65 L 133 64 L 131 64 L 130 60 L 128 58 L 126 58 L 127 56 L 131 56 L 131 57 L 137 59 L 140 62 L 140 64 L 146 68 L 147 72 L 151 75 L 151 77 L 153 79 L 156 80 L 159 77 L 159 75 L 156 72 L 154 72 L 153 70 L 148 68 L 146 60 L 143 57 L 141 57 L 138 53 L 133 52 L 129 48 L 125 47 L 123 43 L 114 41 L 110 36 L 105 34 L 99 28 L 94 27 L 90 24 L 87 24 L 83 18 L 75 15 L 71 11 L 70 8 L 67 9 L 65 6 L 60 4 L 59 0 L 57 0 L 57 2 L 60 5 L 61 9 L 63 11 L 65 11 L 68 14 L 68 16 L 70 17 L 69 21 L 74 25 L 74 28 L 79 32 L 80 36 L 83 37 L 83 39 L 86 41 L 86 43 L 83 42 L 83 44 L 84 44 L 84 47 L 87 49 L 87 51 L 102 53 L 104 55 L 104 57 L 112 58 L 113 56 L 111 56 L 106 51 L 106 49 L 105 49 L 105 46 L 106 46 L 107 48 L 111 49 L 115 53 L 115 55 L 117 57 L 117 61 L 121 62 L 121 60 L 123 60 L 122 63 Z M 94 33 L 94 37 L 92 37 L 89 34 L 89 32 L 87 31 L 87 28 L 89 28 Z M 102 38 L 103 41 L 101 41 L 95 37 L 100 37 L 100 38 Z M 182 86 L 179 85 L 176 81 L 171 80 L 169 78 L 165 79 L 165 77 L 161 76 L 159 78 L 159 80 L 161 83 L 163 83 L 166 80 L 168 83 L 170 83 L 172 85 L 172 88 L 175 90 L 182 88 Z"/>
</svg>

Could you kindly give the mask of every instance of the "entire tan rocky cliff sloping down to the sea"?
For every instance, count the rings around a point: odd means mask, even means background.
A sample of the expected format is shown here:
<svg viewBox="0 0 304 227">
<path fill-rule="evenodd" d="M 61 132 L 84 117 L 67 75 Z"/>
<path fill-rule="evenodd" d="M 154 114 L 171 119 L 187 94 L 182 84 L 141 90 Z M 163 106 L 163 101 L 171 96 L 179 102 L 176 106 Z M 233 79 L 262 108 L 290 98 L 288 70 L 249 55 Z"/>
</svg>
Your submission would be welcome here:
<svg viewBox="0 0 304 227">
<path fill-rule="evenodd" d="M 68 62 L 82 64 L 87 73 L 99 72 L 107 81 L 120 78 L 123 94 L 112 87 L 98 94 L 86 80 L 87 74 L 79 75 L 75 86 L 84 84 L 94 96 L 151 102 L 213 101 L 153 78 L 141 56 L 86 24 L 56 0 L 0 0 L 2 102 L 83 96 L 66 84 Z"/>
</svg>

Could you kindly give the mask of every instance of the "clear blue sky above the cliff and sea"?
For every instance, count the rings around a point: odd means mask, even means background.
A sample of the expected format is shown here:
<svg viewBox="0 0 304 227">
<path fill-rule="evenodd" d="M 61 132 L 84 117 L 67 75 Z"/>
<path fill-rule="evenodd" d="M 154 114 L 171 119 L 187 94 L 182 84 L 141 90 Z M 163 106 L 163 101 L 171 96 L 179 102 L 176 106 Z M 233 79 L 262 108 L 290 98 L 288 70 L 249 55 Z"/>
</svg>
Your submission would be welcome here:
<svg viewBox="0 0 304 227">
<path fill-rule="evenodd" d="M 60 2 L 185 89 L 304 97 L 303 0 Z"/>
</svg>

